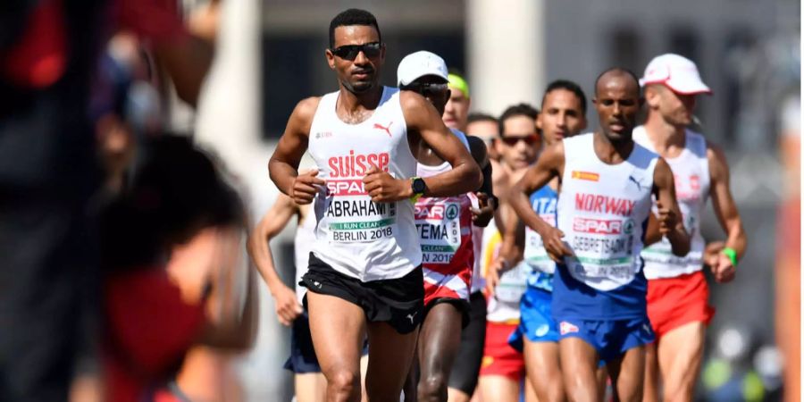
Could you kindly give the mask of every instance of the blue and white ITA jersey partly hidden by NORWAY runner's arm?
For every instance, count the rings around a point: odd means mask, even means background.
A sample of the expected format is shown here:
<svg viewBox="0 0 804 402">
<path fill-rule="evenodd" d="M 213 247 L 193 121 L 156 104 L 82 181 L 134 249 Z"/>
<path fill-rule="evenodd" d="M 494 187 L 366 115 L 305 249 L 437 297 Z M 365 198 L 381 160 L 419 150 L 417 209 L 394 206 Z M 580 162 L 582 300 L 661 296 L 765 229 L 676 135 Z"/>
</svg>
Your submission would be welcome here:
<svg viewBox="0 0 804 402">
<path fill-rule="evenodd" d="M 538 214 L 544 222 L 556 226 L 556 205 L 558 193 L 550 186 L 544 186 L 534 191 L 530 197 L 533 212 Z M 556 272 L 556 263 L 550 259 L 547 250 L 536 230 L 525 227 L 524 261 L 530 265 L 528 286 L 532 288 L 553 291 L 553 273 Z"/>
</svg>

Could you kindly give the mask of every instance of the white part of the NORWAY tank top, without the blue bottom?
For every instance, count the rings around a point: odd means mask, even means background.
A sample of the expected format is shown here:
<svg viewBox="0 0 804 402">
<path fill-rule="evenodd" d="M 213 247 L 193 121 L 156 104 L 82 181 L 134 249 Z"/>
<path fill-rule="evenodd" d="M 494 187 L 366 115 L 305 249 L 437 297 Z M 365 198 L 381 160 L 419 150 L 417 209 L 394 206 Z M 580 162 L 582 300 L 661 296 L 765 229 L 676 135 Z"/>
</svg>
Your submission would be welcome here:
<svg viewBox="0 0 804 402">
<path fill-rule="evenodd" d="M 623 163 L 603 163 L 593 138 L 585 134 L 564 140 L 557 222 L 574 252 L 565 258 L 569 273 L 591 288 L 608 291 L 629 284 L 641 270 L 658 155 L 635 144 Z"/>
</svg>

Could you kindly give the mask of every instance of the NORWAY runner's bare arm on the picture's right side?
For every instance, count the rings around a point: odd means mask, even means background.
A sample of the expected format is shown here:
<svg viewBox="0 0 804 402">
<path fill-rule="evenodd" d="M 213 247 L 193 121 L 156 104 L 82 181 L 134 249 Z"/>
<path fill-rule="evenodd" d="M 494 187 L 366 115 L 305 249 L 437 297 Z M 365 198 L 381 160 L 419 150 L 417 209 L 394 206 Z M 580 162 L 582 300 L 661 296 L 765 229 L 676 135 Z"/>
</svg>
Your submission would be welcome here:
<svg viewBox="0 0 804 402">
<path fill-rule="evenodd" d="M 690 252 L 690 235 L 684 229 L 681 209 L 675 198 L 673 172 L 663 158 L 658 159 L 653 171 L 653 190 L 659 231 L 670 240 L 674 255 L 687 255 Z"/>
</svg>

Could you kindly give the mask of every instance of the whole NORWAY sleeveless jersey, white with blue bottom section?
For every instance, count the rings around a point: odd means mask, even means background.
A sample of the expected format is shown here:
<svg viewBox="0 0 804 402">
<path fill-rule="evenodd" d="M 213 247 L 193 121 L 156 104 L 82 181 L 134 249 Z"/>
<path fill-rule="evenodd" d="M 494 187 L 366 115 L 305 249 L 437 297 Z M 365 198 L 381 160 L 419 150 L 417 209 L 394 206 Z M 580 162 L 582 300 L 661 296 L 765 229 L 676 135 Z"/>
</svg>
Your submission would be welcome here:
<svg viewBox="0 0 804 402">
<path fill-rule="evenodd" d="M 553 315 L 644 317 L 648 281 L 640 252 L 658 155 L 634 144 L 623 163 L 603 163 L 592 134 L 565 138 L 564 147 L 557 227 L 574 256 L 565 257 L 553 281 Z"/>
</svg>

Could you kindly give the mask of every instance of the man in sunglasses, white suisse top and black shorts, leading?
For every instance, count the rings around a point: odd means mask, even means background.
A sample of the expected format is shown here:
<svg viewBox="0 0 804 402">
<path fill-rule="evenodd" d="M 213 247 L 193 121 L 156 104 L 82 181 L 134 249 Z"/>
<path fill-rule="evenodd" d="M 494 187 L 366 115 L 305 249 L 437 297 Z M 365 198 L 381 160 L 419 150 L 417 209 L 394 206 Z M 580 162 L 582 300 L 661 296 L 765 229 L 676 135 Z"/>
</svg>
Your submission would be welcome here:
<svg viewBox="0 0 804 402">
<path fill-rule="evenodd" d="M 327 399 L 360 398 L 358 363 L 368 332 L 366 393 L 369 400 L 396 400 L 423 315 L 422 250 L 410 198 L 463 194 L 479 188 L 482 176 L 426 99 L 379 84 L 385 47 L 371 13 L 339 13 L 330 47 L 339 90 L 299 102 L 269 170 L 297 204 L 315 202 L 315 241 L 302 282 Z M 416 178 L 411 149 L 420 141 L 453 169 Z M 299 175 L 308 147 L 321 170 Z"/>
</svg>

